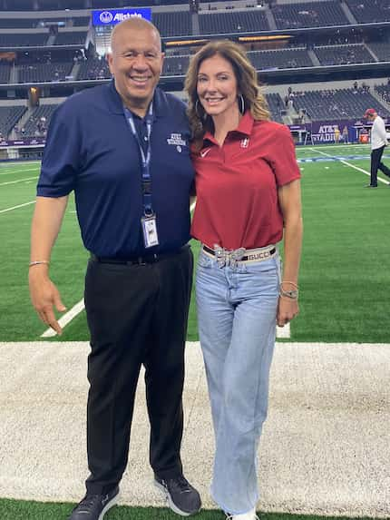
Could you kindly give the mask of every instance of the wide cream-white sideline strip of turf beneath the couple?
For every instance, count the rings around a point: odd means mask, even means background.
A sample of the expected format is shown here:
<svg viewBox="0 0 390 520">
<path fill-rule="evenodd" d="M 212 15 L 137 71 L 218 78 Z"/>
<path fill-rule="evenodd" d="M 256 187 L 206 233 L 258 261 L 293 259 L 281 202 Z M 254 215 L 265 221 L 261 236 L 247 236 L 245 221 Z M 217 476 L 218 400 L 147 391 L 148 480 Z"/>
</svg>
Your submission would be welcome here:
<svg viewBox="0 0 390 520">
<path fill-rule="evenodd" d="M 78 501 L 86 343 L 0 343 L 0 496 Z M 266 511 L 390 516 L 390 345 L 278 343 L 258 451 Z M 200 346 L 188 343 L 185 474 L 210 500 L 213 435 Z M 163 505 L 148 464 L 143 378 L 121 503 Z"/>
</svg>

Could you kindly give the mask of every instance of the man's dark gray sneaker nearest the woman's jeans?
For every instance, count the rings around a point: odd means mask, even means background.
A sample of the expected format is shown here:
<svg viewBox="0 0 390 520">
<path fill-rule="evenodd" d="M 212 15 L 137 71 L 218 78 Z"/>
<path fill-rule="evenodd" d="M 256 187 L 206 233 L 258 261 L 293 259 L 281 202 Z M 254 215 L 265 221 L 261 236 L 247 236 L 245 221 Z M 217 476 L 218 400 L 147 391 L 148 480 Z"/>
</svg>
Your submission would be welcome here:
<svg viewBox="0 0 390 520">
<path fill-rule="evenodd" d="M 155 475 L 154 485 L 161 489 L 174 513 L 190 516 L 200 510 L 200 494 L 184 476 L 164 480 Z"/>
</svg>

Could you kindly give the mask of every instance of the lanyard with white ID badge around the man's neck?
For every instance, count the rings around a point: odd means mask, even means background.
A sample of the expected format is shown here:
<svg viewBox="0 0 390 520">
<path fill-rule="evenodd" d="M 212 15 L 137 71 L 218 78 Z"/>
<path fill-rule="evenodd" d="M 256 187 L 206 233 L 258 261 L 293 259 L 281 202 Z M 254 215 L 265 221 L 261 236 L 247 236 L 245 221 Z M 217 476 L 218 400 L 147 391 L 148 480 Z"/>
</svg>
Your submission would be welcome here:
<svg viewBox="0 0 390 520">
<path fill-rule="evenodd" d="M 125 108 L 126 119 L 129 122 L 130 128 L 132 130 L 132 135 L 134 139 L 138 143 L 138 147 L 140 149 L 141 154 L 141 170 L 142 170 L 142 192 L 143 192 L 143 216 L 141 217 L 141 228 L 143 234 L 143 243 L 145 248 L 151 248 L 153 246 L 159 245 L 159 235 L 157 232 L 157 219 L 156 214 L 154 213 L 151 207 L 151 191 L 147 190 L 147 187 L 151 187 L 151 123 L 152 123 L 152 115 L 153 115 L 153 107 L 152 103 L 149 108 L 149 112 L 146 116 L 146 126 L 148 129 L 148 150 L 143 152 L 143 148 L 141 146 L 140 136 L 135 128 L 134 120 L 132 118 L 132 113 Z"/>
</svg>

